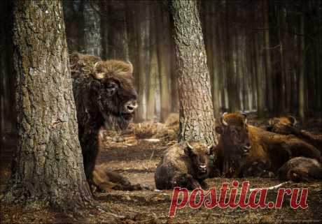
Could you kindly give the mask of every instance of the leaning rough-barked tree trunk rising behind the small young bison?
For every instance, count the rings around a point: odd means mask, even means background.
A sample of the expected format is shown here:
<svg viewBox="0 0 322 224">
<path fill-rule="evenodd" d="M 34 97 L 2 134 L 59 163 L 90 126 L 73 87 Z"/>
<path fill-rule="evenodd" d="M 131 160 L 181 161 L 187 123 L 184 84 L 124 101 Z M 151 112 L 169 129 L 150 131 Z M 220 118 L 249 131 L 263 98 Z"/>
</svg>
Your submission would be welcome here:
<svg viewBox="0 0 322 224">
<path fill-rule="evenodd" d="M 172 1 L 179 80 L 179 142 L 217 142 L 207 55 L 196 1 Z"/>
</svg>

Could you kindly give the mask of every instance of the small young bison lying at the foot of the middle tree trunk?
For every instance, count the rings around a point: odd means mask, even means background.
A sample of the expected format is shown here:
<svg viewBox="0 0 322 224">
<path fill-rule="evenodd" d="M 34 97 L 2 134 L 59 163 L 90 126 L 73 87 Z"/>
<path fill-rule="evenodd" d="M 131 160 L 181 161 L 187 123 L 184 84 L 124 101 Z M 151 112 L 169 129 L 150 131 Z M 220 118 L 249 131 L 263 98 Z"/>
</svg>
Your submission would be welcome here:
<svg viewBox="0 0 322 224">
<path fill-rule="evenodd" d="M 165 151 L 155 170 L 155 186 L 160 190 L 175 186 L 207 188 L 204 179 L 210 174 L 213 149 L 201 142 L 174 144 Z"/>
</svg>

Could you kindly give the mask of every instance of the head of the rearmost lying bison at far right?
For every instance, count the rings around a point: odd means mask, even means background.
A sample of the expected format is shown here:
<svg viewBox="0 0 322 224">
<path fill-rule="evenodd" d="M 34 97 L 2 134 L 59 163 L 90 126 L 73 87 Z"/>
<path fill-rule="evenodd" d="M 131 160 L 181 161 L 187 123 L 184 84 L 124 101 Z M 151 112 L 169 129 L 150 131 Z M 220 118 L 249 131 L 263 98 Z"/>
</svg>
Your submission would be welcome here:
<svg viewBox="0 0 322 224">
<path fill-rule="evenodd" d="M 295 132 L 295 124 L 297 123 L 295 117 L 274 117 L 269 119 L 267 130 L 282 135 L 289 135 Z"/>
</svg>

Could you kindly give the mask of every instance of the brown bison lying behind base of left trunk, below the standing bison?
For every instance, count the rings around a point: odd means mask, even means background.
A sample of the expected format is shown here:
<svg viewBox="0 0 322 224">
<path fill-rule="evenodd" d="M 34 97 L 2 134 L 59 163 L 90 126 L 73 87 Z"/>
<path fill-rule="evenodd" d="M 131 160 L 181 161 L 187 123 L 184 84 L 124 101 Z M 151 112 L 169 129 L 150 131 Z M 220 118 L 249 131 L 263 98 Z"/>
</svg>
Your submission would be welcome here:
<svg viewBox="0 0 322 224">
<path fill-rule="evenodd" d="M 148 190 L 148 186 L 131 184 L 130 181 L 117 172 L 109 170 L 105 164 L 96 165 L 93 171 L 93 184 L 99 191 L 139 191 Z"/>
</svg>

